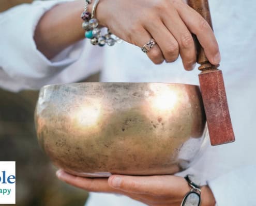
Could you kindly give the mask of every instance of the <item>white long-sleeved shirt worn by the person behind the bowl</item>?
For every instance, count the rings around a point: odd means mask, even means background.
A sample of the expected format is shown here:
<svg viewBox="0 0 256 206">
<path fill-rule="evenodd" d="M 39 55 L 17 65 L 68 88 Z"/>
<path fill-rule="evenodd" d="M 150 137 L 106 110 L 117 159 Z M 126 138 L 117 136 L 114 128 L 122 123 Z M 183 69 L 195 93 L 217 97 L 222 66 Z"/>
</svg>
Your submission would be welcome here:
<svg viewBox="0 0 256 206">
<path fill-rule="evenodd" d="M 34 30 L 43 13 L 60 2 L 37 1 L 0 13 L 0 87 L 10 91 L 39 89 L 45 84 L 79 81 L 99 70 L 101 81 L 198 84 L 199 71 L 185 71 L 180 59 L 154 65 L 140 48 L 128 43 L 101 48 L 84 40 L 48 60 L 36 49 Z M 209 3 L 236 142 L 208 145 L 201 158 L 179 175 L 195 174 L 202 183 L 207 181 L 219 206 L 256 205 L 256 2 Z M 144 204 L 124 196 L 92 193 L 87 205 Z"/>
</svg>

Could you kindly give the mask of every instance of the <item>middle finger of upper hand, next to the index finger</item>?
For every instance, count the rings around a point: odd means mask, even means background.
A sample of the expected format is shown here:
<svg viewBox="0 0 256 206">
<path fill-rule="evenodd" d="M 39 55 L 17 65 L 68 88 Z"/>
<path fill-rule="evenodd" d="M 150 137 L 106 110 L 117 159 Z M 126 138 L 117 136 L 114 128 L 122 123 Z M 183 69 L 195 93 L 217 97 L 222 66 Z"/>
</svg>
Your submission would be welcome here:
<svg viewBox="0 0 256 206">
<path fill-rule="evenodd" d="M 170 12 L 163 15 L 162 19 L 179 45 L 180 57 L 182 57 L 185 70 L 193 70 L 197 62 L 197 51 L 190 31 L 184 24 L 177 11 L 167 8 Z"/>
</svg>

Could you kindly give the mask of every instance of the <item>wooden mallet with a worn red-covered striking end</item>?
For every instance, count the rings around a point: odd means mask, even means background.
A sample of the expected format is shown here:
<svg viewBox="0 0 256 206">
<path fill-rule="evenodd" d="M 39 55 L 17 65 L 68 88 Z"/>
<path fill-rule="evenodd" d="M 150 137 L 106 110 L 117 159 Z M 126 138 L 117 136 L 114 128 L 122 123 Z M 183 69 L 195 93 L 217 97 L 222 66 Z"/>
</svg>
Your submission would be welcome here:
<svg viewBox="0 0 256 206">
<path fill-rule="evenodd" d="M 208 0 L 188 0 L 188 5 L 200 13 L 212 26 Z M 195 38 L 198 49 L 197 62 L 201 64 L 198 68 L 199 82 L 206 113 L 207 126 L 209 130 L 210 143 L 220 145 L 235 141 L 235 136 L 229 114 L 228 101 L 225 93 L 224 81 L 219 65 L 212 65 L 205 56 L 204 49 Z"/>
</svg>

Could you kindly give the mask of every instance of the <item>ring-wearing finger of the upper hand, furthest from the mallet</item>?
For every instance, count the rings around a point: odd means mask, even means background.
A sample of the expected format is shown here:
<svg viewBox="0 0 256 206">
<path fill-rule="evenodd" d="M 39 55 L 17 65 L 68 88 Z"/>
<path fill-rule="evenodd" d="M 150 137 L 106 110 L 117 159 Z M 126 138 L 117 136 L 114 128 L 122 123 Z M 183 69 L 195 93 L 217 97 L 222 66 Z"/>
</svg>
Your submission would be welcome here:
<svg viewBox="0 0 256 206">
<path fill-rule="evenodd" d="M 141 48 L 152 39 L 152 36 L 150 36 L 143 27 L 139 27 L 138 29 L 134 29 L 134 32 L 131 33 L 129 39 L 132 44 Z M 155 44 L 146 54 L 155 64 L 161 64 L 164 60 L 161 49 L 157 44 Z"/>
</svg>

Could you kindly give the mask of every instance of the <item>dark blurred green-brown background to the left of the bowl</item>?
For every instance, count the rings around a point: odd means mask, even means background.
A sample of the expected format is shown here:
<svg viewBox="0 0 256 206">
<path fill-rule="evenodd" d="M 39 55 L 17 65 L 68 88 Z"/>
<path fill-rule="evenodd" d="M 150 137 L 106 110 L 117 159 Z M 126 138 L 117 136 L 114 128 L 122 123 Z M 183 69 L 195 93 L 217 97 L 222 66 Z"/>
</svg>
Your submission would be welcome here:
<svg viewBox="0 0 256 206">
<path fill-rule="evenodd" d="M 0 0 L 0 12 L 29 2 L 32 1 Z M 98 81 L 98 76 L 84 81 Z M 88 194 L 57 180 L 56 168 L 37 143 L 37 98 L 38 91 L 12 93 L 0 89 L 0 161 L 16 161 L 16 205 L 82 206 Z"/>
</svg>

